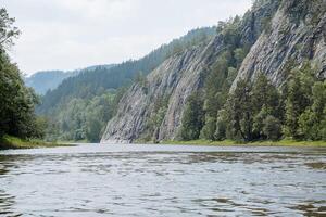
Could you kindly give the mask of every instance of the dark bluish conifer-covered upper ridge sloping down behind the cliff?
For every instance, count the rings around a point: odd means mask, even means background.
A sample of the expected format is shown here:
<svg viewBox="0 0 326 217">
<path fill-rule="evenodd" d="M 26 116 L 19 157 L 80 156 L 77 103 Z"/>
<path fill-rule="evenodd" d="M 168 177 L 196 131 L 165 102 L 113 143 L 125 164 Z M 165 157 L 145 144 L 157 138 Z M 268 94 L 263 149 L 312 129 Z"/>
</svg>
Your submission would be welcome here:
<svg viewBox="0 0 326 217">
<path fill-rule="evenodd" d="M 117 89 L 129 85 L 136 76 L 139 74 L 146 76 L 173 53 L 181 52 L 188 47 L 209 40 L 214 35 L 214 27 L 195 29 L 140 60 L 126 61 L 112 68 L 97 67 L 92 71 L 85 71 L 76 77 L 64 80 L 57 89 L 48 92 L 42 98 L 42 104 L 38 107 L 38 112 L 47 114 L 53 106 L 58 106 L 68 98 L 93 97 L 102 89 Z"/>
</svg>

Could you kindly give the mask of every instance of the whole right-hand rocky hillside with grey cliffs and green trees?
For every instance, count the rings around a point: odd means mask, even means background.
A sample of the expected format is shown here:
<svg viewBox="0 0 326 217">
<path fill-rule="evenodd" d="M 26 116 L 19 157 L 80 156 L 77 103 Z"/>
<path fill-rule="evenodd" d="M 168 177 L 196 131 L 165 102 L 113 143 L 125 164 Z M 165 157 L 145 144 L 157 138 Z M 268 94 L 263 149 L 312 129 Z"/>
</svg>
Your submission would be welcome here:
<svg viewBox="0 0 326 217">
<path fill-rule="evenodd" d="M 102 142 L 326 140 L 325 14 L 324 0 L 255 1 L 135 82 Z"/>
</svg>

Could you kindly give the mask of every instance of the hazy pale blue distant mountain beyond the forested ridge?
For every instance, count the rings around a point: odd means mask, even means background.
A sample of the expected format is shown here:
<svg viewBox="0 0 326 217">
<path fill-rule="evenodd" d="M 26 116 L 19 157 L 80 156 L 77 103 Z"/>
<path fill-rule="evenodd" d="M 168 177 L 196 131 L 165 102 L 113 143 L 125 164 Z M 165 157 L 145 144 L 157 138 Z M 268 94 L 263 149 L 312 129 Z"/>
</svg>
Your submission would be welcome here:
<svg viewBox="0 0 326 217">
<path fill-rule="evenodd" d="M 55 89 L 65 78 L 78 75 L 80 72 L 95 71 L 97 68 L 110 68 L 113 65 L 95 65 L 76 71 L 41 71 L 25 77 L 26 86 L 34 88 L 36 93 L 46 94 L 48 90 Z"/>
</svg>

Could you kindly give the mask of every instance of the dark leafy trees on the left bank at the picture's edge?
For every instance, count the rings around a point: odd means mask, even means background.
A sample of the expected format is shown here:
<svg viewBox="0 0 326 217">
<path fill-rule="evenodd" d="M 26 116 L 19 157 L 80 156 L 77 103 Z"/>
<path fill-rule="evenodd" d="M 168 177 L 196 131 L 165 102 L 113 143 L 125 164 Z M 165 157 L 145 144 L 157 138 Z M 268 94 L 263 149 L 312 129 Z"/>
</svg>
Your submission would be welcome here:
<svg viewBox="0 0 326 217">
<path fill-rule="evenodd" d="M 14 27 L 14 18 L 9 16 L 5 9 L 0 9 L 1 143 L 8 135 L 24 139 L 45 136 L 45 122 L 34 113 L 39 99 L 32 88 L 24 85 L 17 65 L 12 63 L 8 55 L 8 50 L 18 35 L 20 30 Z"/>
</svg>

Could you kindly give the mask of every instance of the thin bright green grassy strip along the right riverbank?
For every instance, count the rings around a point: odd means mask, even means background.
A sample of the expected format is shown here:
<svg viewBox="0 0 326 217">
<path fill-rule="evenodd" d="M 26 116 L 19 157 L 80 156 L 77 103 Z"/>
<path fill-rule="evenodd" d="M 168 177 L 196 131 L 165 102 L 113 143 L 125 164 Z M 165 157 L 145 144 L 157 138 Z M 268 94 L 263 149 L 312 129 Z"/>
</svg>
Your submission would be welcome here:
<svg viewBox="0 0 326 217">
<path fill-rule="evenodd" d="M 191 145 L 220 145 L 220 146 L 325 146 L 326 141 L 294 141 L 294 140 L 279 140 L 279 141 L 255 141 L 255 142 L 236 142 L 231 140 L 224 141 L 209 141 L 209 140 L 191 140 L 191 141 L 162 141 L 162 144 L 191 144 Z"/>
</svg>

